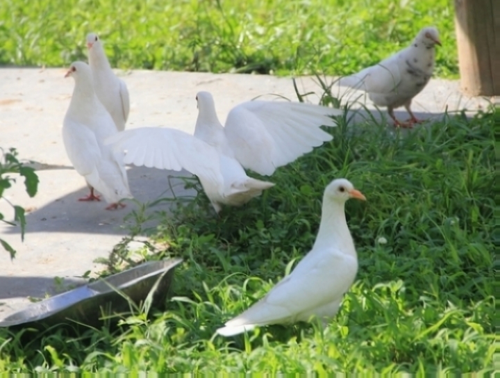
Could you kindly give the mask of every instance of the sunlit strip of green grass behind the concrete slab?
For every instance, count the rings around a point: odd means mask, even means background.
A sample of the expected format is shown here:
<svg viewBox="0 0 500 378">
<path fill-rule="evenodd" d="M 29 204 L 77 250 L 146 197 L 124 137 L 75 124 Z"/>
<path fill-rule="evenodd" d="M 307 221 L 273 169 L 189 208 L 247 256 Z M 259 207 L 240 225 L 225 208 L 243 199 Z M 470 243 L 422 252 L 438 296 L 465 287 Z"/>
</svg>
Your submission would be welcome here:
<svg viewBox="0 0 500 378">
<path fill-rule="evenodd" d="M 351 74 L 428 25 L 443 42 L 437 76 L 457 77 L 449 0 L 2 0 L 0 65 L 86 60 L 94 31 L 113 67 Z"/>
</svg>

